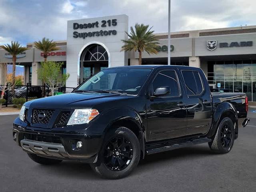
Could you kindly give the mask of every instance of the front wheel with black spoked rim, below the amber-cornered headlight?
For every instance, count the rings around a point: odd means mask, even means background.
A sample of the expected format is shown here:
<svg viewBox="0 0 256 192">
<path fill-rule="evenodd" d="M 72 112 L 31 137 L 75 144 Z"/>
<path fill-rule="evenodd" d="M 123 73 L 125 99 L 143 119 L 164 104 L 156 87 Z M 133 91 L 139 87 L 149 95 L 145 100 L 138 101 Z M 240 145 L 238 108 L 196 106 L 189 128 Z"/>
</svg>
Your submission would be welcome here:
<svg viewBox="0 0 256 192">
<path fill-rule="evenodd" d="M 98 162 L 90 164 L 96 174 L 107 179 L 119 179 L 134 170 L 140 161 L 140 144 L 136 135 L 125 127 L 107 136 L 98 155 Z"/>
</svg>

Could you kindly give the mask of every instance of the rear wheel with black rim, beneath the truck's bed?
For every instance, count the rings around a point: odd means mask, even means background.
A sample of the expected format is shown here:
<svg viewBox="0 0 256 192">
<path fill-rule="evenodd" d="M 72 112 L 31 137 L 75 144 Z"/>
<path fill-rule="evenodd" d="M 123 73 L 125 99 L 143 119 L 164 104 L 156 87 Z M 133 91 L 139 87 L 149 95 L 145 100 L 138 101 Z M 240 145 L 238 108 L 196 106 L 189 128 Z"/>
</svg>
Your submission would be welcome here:
<svg viewBox="0 0 256 192">
<path fill-rule="evenodd" d="M 235 129 L 234 123 L 229 117 L 222 119 L 218 126 L 214 140 L 209 142 L 210 149 L 218 154 L 230 152 L 234 145 Z"/>
</svg>

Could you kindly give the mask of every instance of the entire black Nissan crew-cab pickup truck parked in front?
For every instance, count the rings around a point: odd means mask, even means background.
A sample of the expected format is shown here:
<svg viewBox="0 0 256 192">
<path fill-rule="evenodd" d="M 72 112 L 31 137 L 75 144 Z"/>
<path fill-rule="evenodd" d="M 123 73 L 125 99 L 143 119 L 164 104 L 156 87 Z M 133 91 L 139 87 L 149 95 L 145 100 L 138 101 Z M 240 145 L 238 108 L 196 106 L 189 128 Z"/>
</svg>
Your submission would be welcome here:
<svg viewBox="0 0 256 192">
<path fill-rule="evenodd" d="M 247 111 L 246 94 L 211 94 L 200 68 L 116 67 L 72 93 L 26 102 L 13 139 L 37 163 L 77 160 L 115 179 L 149 154 L 201 143 L 229 152 Z"/>
</svg>

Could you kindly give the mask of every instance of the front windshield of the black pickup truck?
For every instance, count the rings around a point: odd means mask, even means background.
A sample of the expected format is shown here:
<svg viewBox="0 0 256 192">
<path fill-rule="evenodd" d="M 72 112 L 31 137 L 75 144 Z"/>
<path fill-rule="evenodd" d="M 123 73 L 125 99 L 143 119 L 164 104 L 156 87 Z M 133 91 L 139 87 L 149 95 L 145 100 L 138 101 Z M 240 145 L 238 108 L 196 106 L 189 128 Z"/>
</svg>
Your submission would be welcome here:
<svg viewBox="0 0 256 192">
<path fill-rule="evenodd" d="M 109 68 L 89 78 L 78 90 L 106 90 L 136 95 L 151 71 L 152 69 L 142 68 Z"/>
</svg>

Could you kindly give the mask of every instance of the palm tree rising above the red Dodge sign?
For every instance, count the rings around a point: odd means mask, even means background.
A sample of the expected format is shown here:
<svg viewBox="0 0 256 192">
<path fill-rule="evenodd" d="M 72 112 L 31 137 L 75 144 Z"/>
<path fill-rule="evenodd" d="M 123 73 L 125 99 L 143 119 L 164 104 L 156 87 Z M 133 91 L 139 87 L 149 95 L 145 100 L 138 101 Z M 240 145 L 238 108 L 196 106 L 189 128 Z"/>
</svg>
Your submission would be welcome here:
<svg viewBox="0 0 256 192">
<path fill-rule="evenodd" d="M 41 50 L 44 53 L 44 62 L 47 61 L 47 53 L 51 51 L 58 51 L 60 48 L 56 46 L 56 42 L 53 40 L 46 39 L 45 37 L 42 41 L 34 42 L 35 47 Z"/>
</svg>

